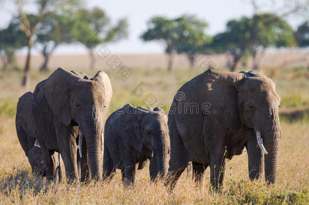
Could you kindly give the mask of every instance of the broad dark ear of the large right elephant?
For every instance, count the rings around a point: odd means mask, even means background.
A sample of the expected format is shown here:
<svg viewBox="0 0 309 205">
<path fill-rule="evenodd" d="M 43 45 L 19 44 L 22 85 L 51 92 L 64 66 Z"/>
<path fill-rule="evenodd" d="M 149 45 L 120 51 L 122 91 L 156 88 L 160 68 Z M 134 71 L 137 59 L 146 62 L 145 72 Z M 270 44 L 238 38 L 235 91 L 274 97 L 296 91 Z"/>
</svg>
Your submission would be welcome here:
<svg viewBox="0 0 309 205">
<path fill-rule="evenodd" d="M 237 132 L 241 127 L 237 92 L 245 77 L 243 73 L 209 69 L 198 77 L 195 87 L 202 112 L 211 115 L 232 132 Z"/>
</svg>

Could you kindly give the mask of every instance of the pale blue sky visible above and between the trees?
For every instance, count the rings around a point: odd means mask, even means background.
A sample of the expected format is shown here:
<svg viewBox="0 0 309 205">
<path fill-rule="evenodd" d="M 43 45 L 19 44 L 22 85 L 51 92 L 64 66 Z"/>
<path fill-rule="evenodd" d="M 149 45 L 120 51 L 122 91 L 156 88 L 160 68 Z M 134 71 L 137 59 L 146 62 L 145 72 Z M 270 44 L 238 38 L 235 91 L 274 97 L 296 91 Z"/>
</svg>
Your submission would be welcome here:
<svg viewBox="0 0 309 205">
<path fill-rule="evenodd" d="M 162 53 L 164 45 L 158 42 L 144 43 L 139 36 L 146 30 L 146 22 L 153 16 L 166 16 L 175 18 L 182 14 L 196 15 L 198 18 L 206 20 L 209 28 L 206 30 L 208 34 L 215 34 L 223 31 L 228 20 L 239 18 L 242 16 L 250 16 L 253 14 L 253 7 L 249 0 L 215 0 L 215 1 L 177 1 L 177 0 L 157 0 L 157 1 L 85 1 L 87 8 L 98 6 L 104 9 L 107 15 L 115 22 L 119 18 L 126 17 L 129 21 L 129 37 L 117 43 L 108 44 L 108 48 L 113 53 L 132 54 L 132 53 Z M 257 1 L 262 11 L 279 10 L 283 12 L 282 1 Z M 15 11 L 12 5 L 5 5 L 7 9 Z M 10 21 L 12 14 L 4 9 L 0 9 L 0 27 L 5 27 Z M 28 6 L 27 11 L 35 11 L 35 8 Z M 286 20 L 296 27 L 303 22 L 307 16 L 292 15 Z M 86 53 L 87 50 L 82 45 L 62 45 L 59 46 L 55 54 L 80 54 Z M 24 51 L 18 52 L 23 54 Z M 35 52 L 34 49 L 34 54 Z"/>
</svg>

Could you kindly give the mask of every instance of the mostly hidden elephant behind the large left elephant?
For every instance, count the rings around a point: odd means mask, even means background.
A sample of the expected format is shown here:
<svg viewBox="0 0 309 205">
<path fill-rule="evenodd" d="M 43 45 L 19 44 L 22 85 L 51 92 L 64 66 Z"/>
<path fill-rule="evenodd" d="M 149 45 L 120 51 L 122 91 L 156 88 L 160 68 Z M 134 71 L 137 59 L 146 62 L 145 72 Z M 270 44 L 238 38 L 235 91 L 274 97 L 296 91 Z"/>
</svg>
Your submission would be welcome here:
<svg viewBox="0 0 309 205">
<path fill-rule="evenodd" d="M 45 176 L 45 164 L 43 161 L 42 150 L 40 146 L 35 145 L 35 128 L 32 120 L 31 103 L 33 93 L 27 92 L 19 98 L 16 111 L 16 132 L 18 140 L 28 157 L 31 165 L 32 173 L 38 176 Z M 61 165 L 59 161 L 59 153 L 55 152 L 51 155 L 51 160 L 55 162 L 53 175 L 57 180 L 61 180 Z"/>
</svg>

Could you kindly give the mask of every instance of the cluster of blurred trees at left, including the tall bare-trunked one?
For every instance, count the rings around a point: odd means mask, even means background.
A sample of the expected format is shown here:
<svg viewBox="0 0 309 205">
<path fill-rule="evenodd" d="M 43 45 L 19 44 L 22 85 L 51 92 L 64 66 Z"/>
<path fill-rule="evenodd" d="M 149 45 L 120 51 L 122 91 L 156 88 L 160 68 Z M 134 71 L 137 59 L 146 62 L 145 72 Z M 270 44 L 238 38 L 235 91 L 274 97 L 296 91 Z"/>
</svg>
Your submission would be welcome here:
<svg viewBox="0 0 309 205">
<path fill-rule="evenodd" d="M 12 3 L 0 0 L 2 5 Z M 80 0 L 37 0 L 37 14 L 24 13 L 25 3 L 14 0 L 18 12 L 7 28 L 0 30 L 0 54 L 3 69 L 16 67 L 15 51 L 27 47 L 22 86 L 28 86 L 33 46 L 40 48 L 44 62 L 40 70 L 48 70 L 50 56 L 60 44 L 81 43 L 94 67 L 94 49 L 102 43 L 117 41 L 128 35 L 126 19 L 112 24 L 100 8 L 84 9 Z M 33 1 L 32 1 L 33 3 Z"/>
</svg>

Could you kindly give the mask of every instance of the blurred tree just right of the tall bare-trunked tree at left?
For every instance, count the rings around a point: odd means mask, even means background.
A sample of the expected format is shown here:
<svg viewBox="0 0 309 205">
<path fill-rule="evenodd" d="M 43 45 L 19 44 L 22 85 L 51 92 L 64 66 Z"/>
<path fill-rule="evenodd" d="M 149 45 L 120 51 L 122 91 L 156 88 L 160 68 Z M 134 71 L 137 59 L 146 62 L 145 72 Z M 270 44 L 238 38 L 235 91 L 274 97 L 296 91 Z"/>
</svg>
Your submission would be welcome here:
<svg viewBox="0 0 309 205">
<path fill-rule="evenodd" d="M 70 13 L 51 13 L 44 17 L 35 39 L 35 43 L 42 46 L 41 53 L 44 57 L 40 70 L 48 70 L 50 56 L 60 44 L 73 42 L 73 24 L 74 19 Z"/>
</svg>

